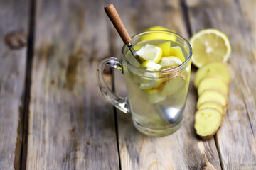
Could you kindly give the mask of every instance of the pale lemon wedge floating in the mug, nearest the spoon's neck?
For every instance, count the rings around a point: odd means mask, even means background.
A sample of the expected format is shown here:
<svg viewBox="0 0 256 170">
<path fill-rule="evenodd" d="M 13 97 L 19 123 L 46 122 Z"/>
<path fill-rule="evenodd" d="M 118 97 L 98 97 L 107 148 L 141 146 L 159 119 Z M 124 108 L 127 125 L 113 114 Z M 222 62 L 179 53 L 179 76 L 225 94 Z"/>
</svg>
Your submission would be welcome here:
<svg viewBox="0 0 256 170">
<path fill-rule="evenodd" d="M 139 55 L 143 60 L 151 60 L 153 62 L 159 62 L 162 56 L 162 50 L 160 47 L 154 45 L 146 44 L 141 49 L 139 49 L 136 54 Z"/>
</svg>

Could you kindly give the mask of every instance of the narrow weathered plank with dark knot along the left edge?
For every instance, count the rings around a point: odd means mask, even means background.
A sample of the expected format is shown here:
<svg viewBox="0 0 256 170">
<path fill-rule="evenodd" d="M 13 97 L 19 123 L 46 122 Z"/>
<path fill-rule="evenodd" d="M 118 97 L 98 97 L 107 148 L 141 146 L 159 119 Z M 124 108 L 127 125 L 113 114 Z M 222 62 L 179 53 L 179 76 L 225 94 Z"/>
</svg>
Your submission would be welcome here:
<svg viewBox="0 0 256 170">
<path fill-rule="evenodd" d="M 0 169 L 3 170 L 20 169 L 27 24 L 28 1 L 0 1 Z"/>
</svg>

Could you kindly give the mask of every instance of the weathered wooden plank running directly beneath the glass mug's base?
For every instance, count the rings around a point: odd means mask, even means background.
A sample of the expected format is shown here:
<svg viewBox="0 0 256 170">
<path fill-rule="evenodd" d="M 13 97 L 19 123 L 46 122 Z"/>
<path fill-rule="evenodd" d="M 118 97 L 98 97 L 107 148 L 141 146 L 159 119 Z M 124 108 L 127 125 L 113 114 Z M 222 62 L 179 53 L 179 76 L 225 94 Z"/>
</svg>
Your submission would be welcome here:
<svg viewBox="0 0 256 170">
<path fill-rule="evenodd" d="M 188 38 L 180 1 L 112 1 L 131 35 L 149 26 L 164 26 Z M 129 13 L 129 14 L 128 14 Z M 110 24 L 115 57 L 121 56 L 122 40 Z M 126 96 L 122 74 L 115 76 L 117 94 Z M 193 79 L 194 71 L 191 79 Z M 190 86 L 183 124 L 173 135 L 146 137 L 132 125 L 131 117 L 118 112 L 119 152 L 122 169 L 220 169 L 214 140 L 198 140 L 193 130 L 196 90 Z"/>
</svg>

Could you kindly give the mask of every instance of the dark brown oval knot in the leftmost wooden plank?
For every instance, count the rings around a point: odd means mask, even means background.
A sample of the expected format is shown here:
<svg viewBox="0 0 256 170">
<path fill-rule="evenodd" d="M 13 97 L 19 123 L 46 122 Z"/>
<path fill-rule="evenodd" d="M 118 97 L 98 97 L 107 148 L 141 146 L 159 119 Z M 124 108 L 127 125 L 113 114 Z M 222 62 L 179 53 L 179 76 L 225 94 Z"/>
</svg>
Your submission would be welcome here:
<svg viewBox="0 0 256 170">
<path fill-rule="evenodd" d="M 27 36 L 25 33 L 12 31 L 4 36 L 4 42 L 11 50 L 19 50 L 27 44 Z"/>
</svg>

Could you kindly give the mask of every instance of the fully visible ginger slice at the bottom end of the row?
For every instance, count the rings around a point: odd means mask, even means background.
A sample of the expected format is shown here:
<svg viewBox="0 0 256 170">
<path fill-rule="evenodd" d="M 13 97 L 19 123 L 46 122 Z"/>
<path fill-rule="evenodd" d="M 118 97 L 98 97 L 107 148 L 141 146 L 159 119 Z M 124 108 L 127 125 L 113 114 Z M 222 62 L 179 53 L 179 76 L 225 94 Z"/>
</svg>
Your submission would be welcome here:
<svg viewBox="0 0 256 170">
<path fill-rule="evenodd" d="M 208 140 L 220 128 L 222 116 L 215 108 L 203 108 L 198 110 L 195 115 L 196 134 L 203 140 Z"/>
</svg>

